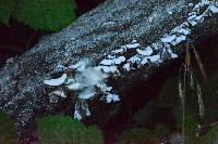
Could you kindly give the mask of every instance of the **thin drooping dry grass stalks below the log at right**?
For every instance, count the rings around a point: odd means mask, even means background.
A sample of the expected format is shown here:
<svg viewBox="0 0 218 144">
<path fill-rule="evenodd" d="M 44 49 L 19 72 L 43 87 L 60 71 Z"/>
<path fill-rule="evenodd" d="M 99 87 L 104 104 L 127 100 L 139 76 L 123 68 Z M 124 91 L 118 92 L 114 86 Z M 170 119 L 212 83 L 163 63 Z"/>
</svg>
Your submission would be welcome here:
<svg viewBox="0 0 218 144">
<path fill-rule="evenodd" d="M 191 45 L 190 45 L 191 44 Z M 178 81 L 178 89 L 179 89 L 179 96 L 181 101 L 182 106 L 182 144 L 185 143 L 185 94 L 186 94 L 186 88 L 191 88 L 192 90 L 196 90 L 197 93 L 197 103 L 198 103 L 198 112 L 201 119 L 204 119 L 205 117 L 205 106 L 204 101 L 202 96 L 202 89 L 197 81 L 197 79 L 194 77 L 192 65 L 191 65 L 191 53 L 190 48 L 194 50 L 194 55 L 197 62 L 197 65 L 201 69 L 201 73 L 203 75 L 204 80 L 207 82 L 207 75 L 204 70 L 204 65 L 199 58 L 199 54 L 196 51 L 193 43 L 187 41 L 186 49 L 185 49 L 185 64 L 182 65 L 179 71 L 179 81 Z"/>
</svg>

